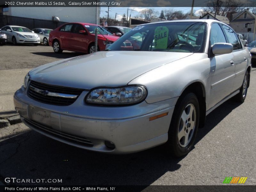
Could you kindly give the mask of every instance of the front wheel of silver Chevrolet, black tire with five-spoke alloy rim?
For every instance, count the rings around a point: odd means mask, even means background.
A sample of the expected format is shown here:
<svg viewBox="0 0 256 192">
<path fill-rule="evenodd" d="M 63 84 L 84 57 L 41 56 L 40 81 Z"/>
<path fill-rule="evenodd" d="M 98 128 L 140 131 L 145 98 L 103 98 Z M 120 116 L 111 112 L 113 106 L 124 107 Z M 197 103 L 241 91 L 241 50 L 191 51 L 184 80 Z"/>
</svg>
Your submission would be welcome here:
<svg viewBox="0 0 256 192">
<path fill-rule="evenodd" d="M 172 156 L 185 156 L 193 147 L 199 125 L 199 115 L 200 108 L 196 95 L 192 92 L 183 94 L 175 105 L 168 131 L 167 146 Z"/>
</svg>

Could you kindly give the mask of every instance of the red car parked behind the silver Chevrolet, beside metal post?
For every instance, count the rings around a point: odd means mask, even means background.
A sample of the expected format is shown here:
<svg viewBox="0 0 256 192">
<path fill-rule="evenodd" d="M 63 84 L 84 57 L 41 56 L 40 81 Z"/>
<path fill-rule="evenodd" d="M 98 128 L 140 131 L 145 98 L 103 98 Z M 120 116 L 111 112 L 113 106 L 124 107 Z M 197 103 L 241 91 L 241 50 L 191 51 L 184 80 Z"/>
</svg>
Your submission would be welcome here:
<svg viewBox="0 0 256 192">
<path fill-rule="evenodd" d="M 100 25 L 65 23 L 50 32 L 49 45 L 56 53 L 61 53 L 63 50 L 92 53 L 96 28 L 98 28 L 98 51 L 105 50 L 107 44 L 112 44 L 119 38 Z"/>
</svg>

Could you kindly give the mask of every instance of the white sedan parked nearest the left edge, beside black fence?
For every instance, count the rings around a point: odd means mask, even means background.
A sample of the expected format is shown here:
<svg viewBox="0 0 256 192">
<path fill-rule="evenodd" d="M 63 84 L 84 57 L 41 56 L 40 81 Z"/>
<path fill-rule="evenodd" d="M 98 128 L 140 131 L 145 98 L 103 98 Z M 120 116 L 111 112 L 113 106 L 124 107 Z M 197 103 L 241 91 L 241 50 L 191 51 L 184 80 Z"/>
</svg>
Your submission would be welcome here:
<svg viewBox="0 0 256 192">
<path fill-rule="evenodd" d="M 28 28 L 6 25 L 1 28 L 2 32 L 7 35 L 7 42 L 12 42 L 12 44 L 40 44 L 40 38 L 33 31 Z"/>
</svg>

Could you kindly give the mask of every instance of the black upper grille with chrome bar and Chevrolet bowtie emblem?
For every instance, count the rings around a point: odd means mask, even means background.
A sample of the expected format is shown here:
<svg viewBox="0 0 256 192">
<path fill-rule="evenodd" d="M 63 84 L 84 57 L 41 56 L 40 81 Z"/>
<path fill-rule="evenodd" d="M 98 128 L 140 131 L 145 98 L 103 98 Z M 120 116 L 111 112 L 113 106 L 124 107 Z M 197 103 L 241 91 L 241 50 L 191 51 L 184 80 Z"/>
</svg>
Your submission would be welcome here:
<svg viewBox="0 0 256 192">
<path fill-rule="evenodd" d="M 30 81 L 28 96 L 41 103 L 68 106 L 74 103 L 83 91 L 83 89 Z"/>
</svg>

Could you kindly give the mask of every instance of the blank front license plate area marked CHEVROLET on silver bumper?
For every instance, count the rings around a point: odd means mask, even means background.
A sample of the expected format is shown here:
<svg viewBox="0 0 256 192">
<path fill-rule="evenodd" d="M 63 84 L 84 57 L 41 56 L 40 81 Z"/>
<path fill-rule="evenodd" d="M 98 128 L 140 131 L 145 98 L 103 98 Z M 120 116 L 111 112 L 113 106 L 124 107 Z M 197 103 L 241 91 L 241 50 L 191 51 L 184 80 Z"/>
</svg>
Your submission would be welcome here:
<svg viewBox="0 0 256 192">
<path fill-rule="evenodd" d="M 50 125 L 51 111 L 30 105 L 30 118 L 41 124 Z"/>
</svg>

